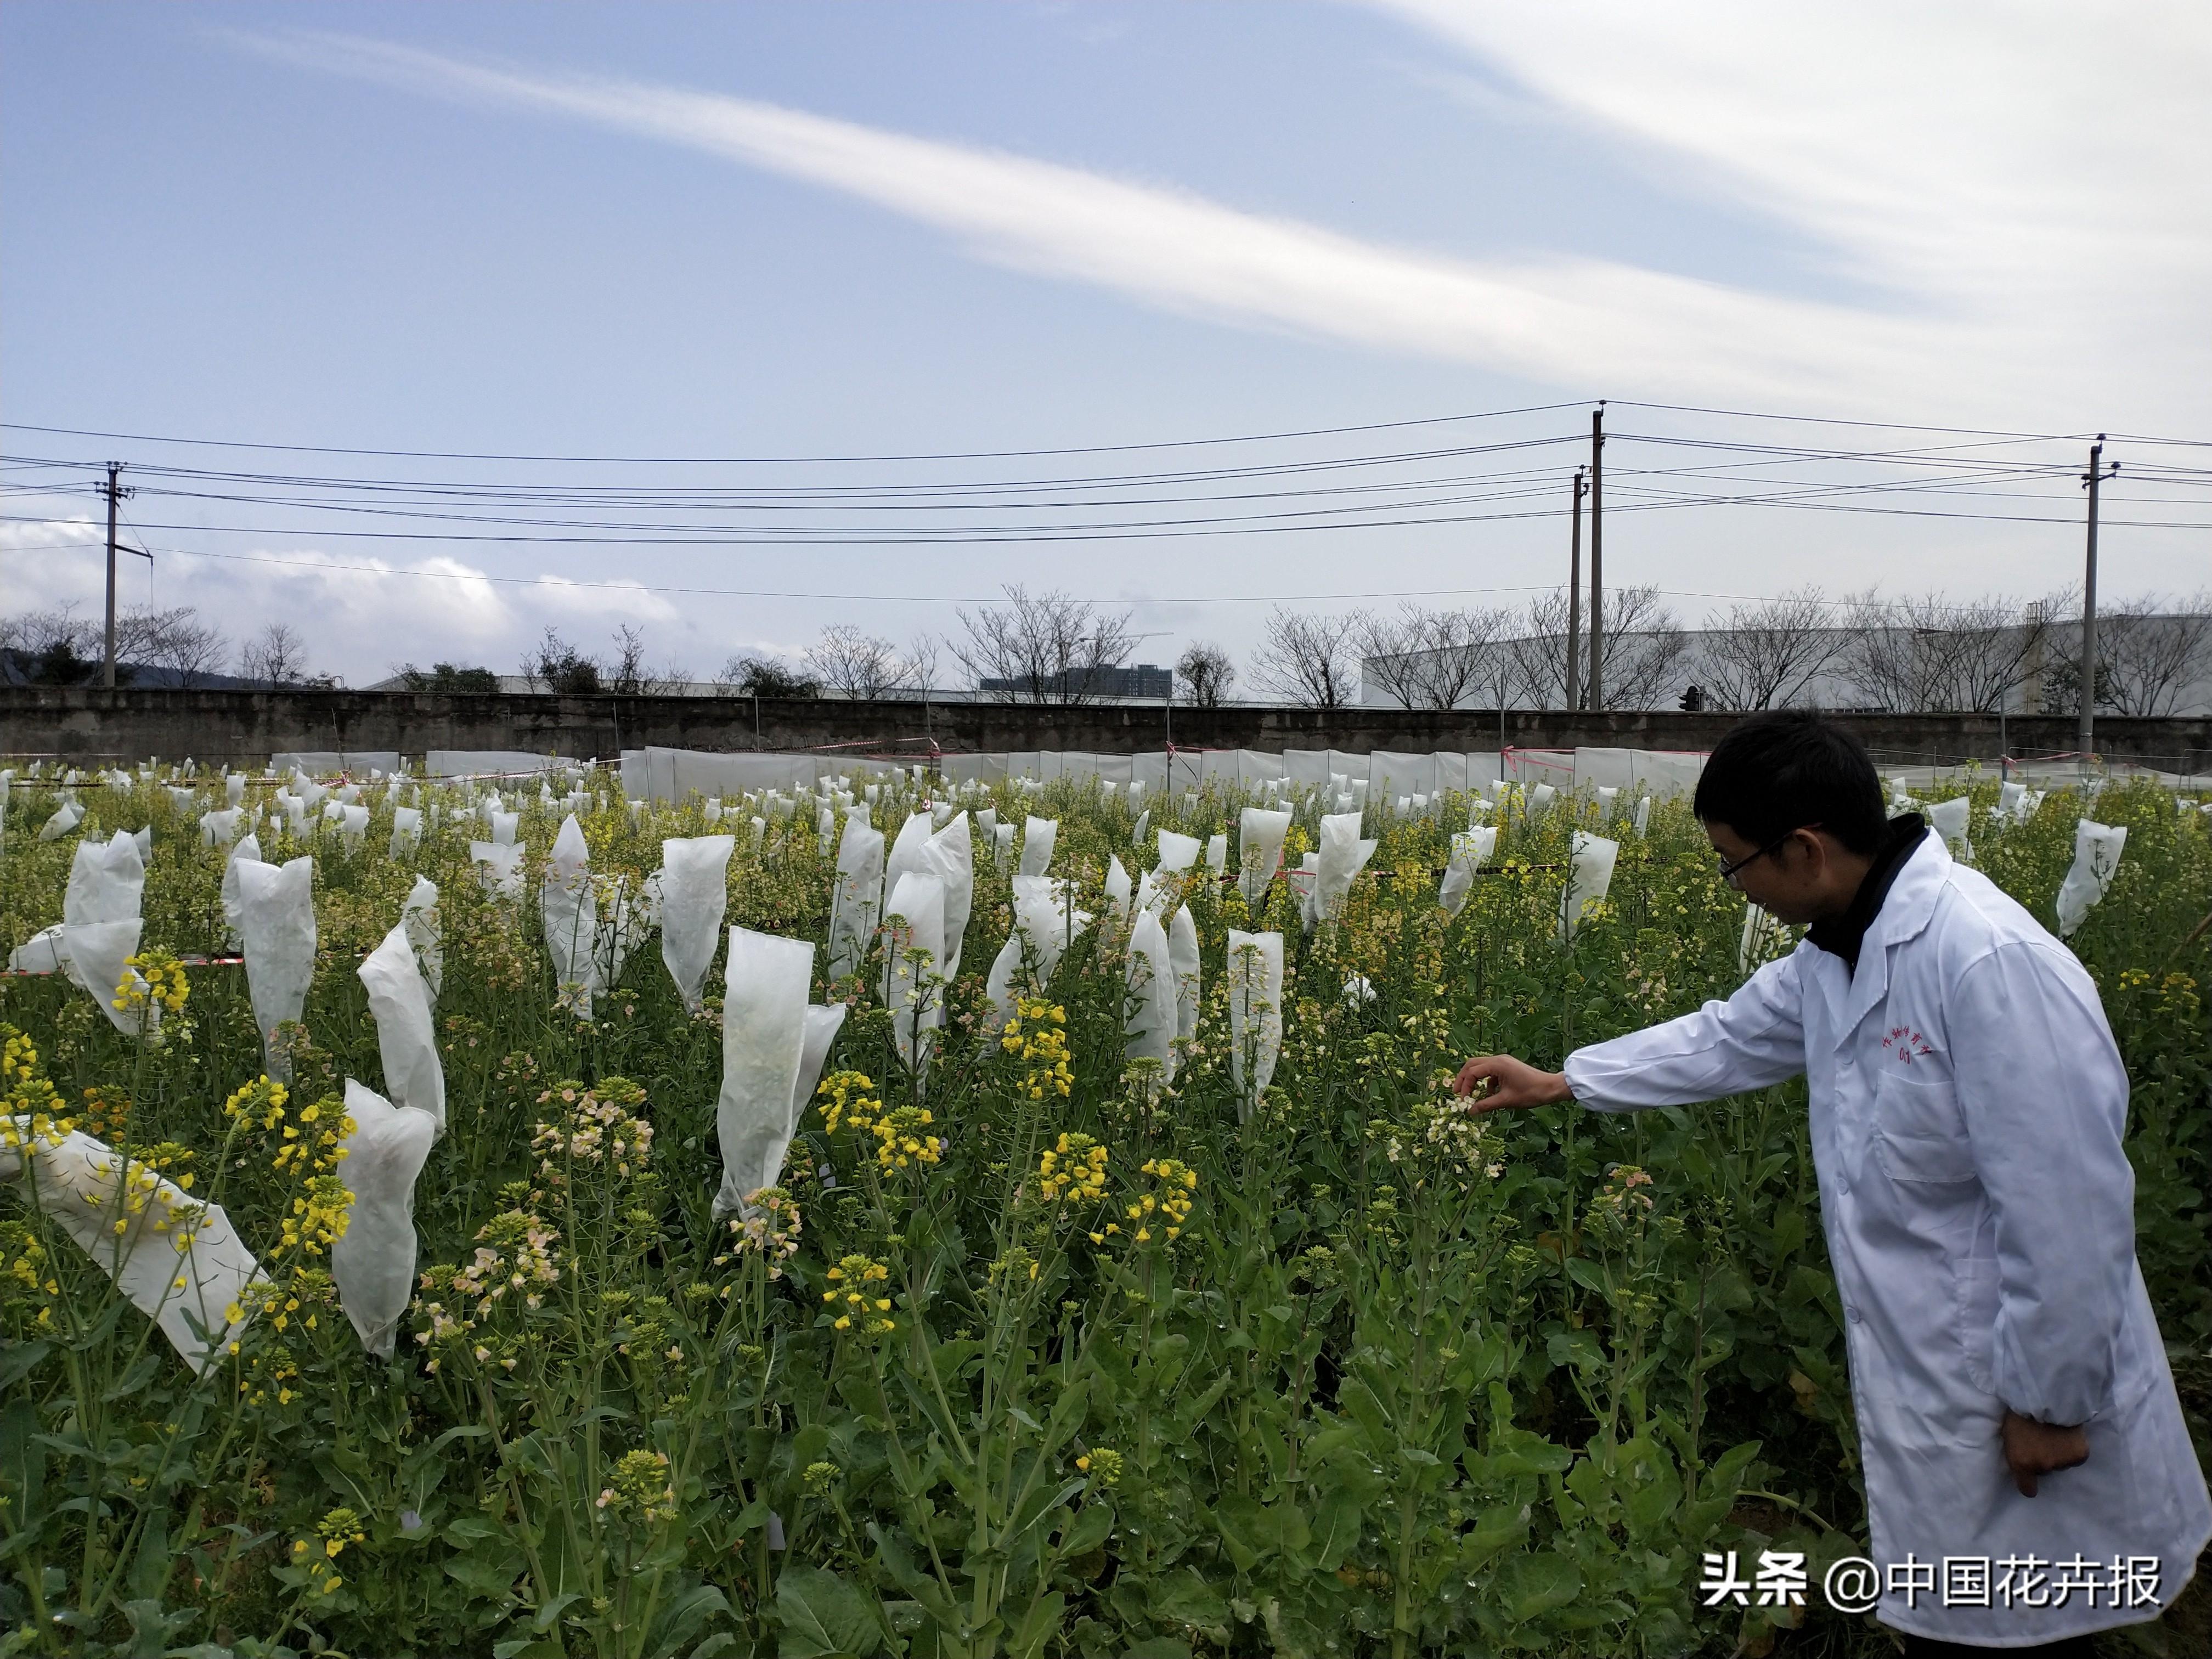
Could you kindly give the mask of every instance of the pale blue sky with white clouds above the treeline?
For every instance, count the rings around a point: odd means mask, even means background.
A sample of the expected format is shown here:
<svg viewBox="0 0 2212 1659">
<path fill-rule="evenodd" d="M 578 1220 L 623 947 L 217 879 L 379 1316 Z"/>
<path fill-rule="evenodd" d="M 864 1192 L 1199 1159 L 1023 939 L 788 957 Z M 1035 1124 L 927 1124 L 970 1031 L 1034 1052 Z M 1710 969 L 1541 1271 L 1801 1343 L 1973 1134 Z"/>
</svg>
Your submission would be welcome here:
<svg viewBox="0 0 2212 1659">
<path fill-rule="evenodd" d="M 2062 7 L 1995 4 L 1867 4 L 1836 29 L 1736 4 L 15 0 L 0 9 L 0 418 L 361 449 L 812 458 L 1604 396 L 2068 434 L 1971 458 L 2079 467 L 2070 436 L 2099 427 L 2212 438 L 2208 71 L 2212 24 L 2192 7 L 2084 31 Z M 1613 425 L 1823 449 L 1962 442 L 1624 407 Z M 354 684 L 403 659 L 511 668 L 546 624 L 599 646 L 617 622 L 706 675 L 737 650 L 803 648 L 827 622 L 900 641 L 958 633 L 956 606 L 931 599 L 1004 582 L 1135 604 L 1155 635 L 1144 657 L 1192 637 L 1243 653 L 1265 615 L 1254 597 L 1522 604 L 1562 575 L 1564 511 L 1031 544 L 555 546 L 343 538 L 378 522 L 157 495 L 177 482 L 157 469 L 914 487 L 1584 429 L 1577 407 L 1135 458 L 827 469 L 283 456 L 18 429 L 11 456 L 80 467 L 11 473 L 0 580 L 11 611 L 95 599 L 82 462 L 117 458 L 142 476 L 126 511 L 157 551 L 150 573 L 133 562 L 126 599 L 199 604 L 234 633 L 292 619 L 316 666 Z M 1639 467 L 1683 453 L 1719 458 L 1617 440 L 1617 504 L 1637 500 Z M 2110 453 L 2157 469 L 2208 451 Z M 1564 507 L 1582 458 L 1526 451 L 1515 487 Z M 1874 478 L 1840 458 L 1790 465 L 1739 478 Z M 1969 489 L 1986 500 L 1953 489 L 1944 511 L 2079 513 L 2057 473 Z M 2170 526 L 2212 520 L 2201 493 L 2179 471 L 2115 489 L 2115 518 L 2143 526 L 2108 531 L 2108 591 L 2203 586 L 2212 531 Z M 942 522 L 911 504 L 872 522 L 894 520 Z M 456 535 L 429 520 L 380 529 Z M 1719 504 L 1608 518 L 1610 580 L 1661 586 L 1688 619 L 1728 606 L 1712 595 L 1807 582 L 2031 595 L 2077 562 L 2073 522 Z M 734 597 L 770 591 L 836 597 Z"/>
</svg>

